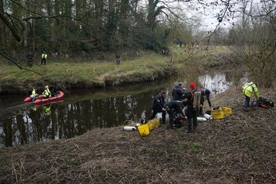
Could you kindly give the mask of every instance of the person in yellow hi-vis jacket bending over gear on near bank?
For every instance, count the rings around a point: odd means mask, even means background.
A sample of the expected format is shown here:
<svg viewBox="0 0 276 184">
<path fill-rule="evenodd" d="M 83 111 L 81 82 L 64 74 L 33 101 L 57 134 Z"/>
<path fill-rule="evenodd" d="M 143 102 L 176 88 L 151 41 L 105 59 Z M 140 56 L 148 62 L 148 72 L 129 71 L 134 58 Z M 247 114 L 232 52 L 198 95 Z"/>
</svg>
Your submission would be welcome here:
<svg viewBox="0 0 276 184">
<path fill-rule="evenodd" d="M 256 99 L 259 99 L 259 93 L 258 93 L 257 85 L 253 82 L 245 83 L 242 86 L 242 92 L 244 93 L 244 96 L 246 96 L 246 101 L 244 103 L 244 111 L 248 111 L 251 94 L 254 93 Z"/>
</svg>

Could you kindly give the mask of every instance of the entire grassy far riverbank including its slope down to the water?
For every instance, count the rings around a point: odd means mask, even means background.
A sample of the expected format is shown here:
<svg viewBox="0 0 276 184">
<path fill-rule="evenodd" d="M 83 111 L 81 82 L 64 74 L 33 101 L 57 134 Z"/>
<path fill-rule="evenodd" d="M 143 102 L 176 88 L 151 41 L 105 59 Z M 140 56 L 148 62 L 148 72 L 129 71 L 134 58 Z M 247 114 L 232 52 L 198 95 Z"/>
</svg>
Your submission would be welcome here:
<svg viewBox="0 0 276 184">
<path fill-rule="evenodd" d="M 106 85 L 121 85 L 155 81 L 164 76 L 185 72 L 187 63 L 198 61 L 216 67 L 227 59 L 226 48 L 204 50 L 188 50 L 188 48 L 172 48 L 171 56 L 162 56 L 153 52 L 144 52 L 136 57 L 128 56 L 116 65 L 112 60 L 91 61 L 51 61 L 47 65 L 35 63 L 33 69 L 43 74 L 35 74 L 19 70 L 15 65 L 4 64 L 0 68 L 0 93 L 22 93 L 30 89 L 43 89 L 45 85 L 57 88 L 103 88 Z M 3 63 L 3 61 L 2 61 Z M 194 62 L 195 63 L 195 62 Z M 198 67 L 197 67 L 198 68 Z"/>
</svg>

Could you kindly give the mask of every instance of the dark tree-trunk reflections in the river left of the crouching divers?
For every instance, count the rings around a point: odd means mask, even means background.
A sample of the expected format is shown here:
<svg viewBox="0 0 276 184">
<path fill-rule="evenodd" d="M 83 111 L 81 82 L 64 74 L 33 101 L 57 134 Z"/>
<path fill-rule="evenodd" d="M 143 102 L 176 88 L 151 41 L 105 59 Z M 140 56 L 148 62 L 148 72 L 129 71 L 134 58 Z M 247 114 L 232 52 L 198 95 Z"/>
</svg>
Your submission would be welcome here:
<svg viewBox="0 0 276 184">
<path fill-rule="evenodd" d="M 139 121 L 150 115 L 151 101 L 148 92 L 24 108 L 15 116 L 0 119 L 0 146 L 69 139 L 95 127 L 121 125 L 126 119 Z"/>
</svg>

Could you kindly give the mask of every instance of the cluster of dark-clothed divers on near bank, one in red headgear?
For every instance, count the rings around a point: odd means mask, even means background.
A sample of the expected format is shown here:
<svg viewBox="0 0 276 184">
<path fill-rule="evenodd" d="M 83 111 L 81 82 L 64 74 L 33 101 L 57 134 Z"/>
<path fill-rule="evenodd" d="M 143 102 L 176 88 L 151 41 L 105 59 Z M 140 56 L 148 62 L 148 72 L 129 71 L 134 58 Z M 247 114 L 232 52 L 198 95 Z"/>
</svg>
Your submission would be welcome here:
<svg viewBox="0 0 276 184">
<path fill-rule="evenodd" d="M 193 132 L 197 129 L 197 116 L 203 114 L 203 105 L 205 98 L 208 101 L 210 110 L 212 111 L 212 105 L 210 102 L 210 90 L 204 88 L 196 88 L 195 83 L 189 84 L 189 90 L 185 90 L 183 83 L 179 83 L 172 90 L 172 101 L 165 103 L 166 92 L 161 91 L 155 97 L 152 102 L 152 115 L 149 119 L 154 119 L 158 112 L 162 113 L 161 123 L 166 123 L 166 114 L 168 113 L 169 124 L 168 127 L 175 129 L 177 128 L 174 124 L 174 118 L 176 115 L 185 117 L 188 119 L 188 133 Z M 195 92 L 200 94 L 199 103 L 194 103 Z M 186 107 L 186 113 L 184 114 L 183 109 Z"/>
</svg>

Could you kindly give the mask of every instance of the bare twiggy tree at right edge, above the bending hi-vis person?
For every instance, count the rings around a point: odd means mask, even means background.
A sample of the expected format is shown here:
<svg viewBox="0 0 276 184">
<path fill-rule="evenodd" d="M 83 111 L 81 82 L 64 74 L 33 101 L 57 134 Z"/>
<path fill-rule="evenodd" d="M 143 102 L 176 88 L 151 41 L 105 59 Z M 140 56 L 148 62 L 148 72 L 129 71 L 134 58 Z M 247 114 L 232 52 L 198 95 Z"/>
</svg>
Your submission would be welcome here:
<svg viewBox="0 0 276 184">
<path fill-rule="evenodd" d="M 251 79 L 261 86 L 273 85 L 276 73 L 276 4 L 263 1 L 244 4 L 242 19 L 233 37 L 237 58 L 248 68 Z"/>
</svg>

